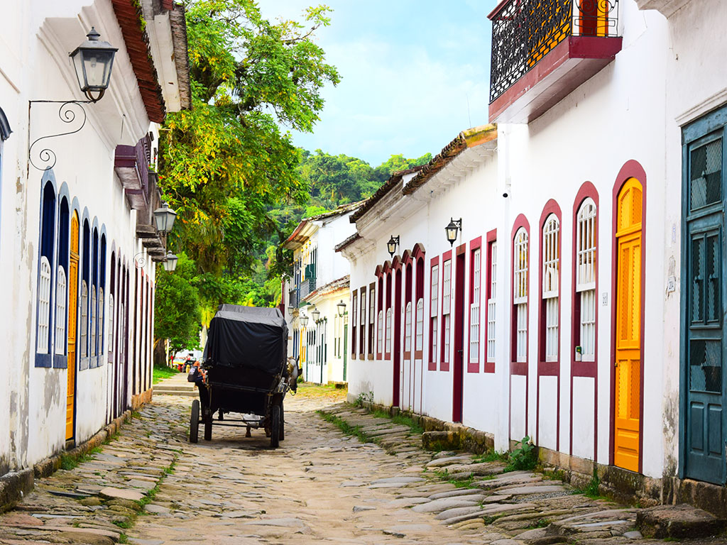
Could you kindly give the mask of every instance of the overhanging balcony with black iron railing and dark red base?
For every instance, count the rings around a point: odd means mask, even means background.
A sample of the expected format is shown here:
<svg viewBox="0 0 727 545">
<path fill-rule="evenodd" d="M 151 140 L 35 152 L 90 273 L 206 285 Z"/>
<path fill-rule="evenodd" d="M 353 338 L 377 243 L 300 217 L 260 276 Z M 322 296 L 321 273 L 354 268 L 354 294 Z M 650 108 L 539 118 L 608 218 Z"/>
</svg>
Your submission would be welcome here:
<svg viewBox="0 0 727 545">
<path fill-rule="evenodd" d="M 529 123 L 621 51 L 619 0 L 503 0 L 492 21 L 491 123 Z"/>
</svg>

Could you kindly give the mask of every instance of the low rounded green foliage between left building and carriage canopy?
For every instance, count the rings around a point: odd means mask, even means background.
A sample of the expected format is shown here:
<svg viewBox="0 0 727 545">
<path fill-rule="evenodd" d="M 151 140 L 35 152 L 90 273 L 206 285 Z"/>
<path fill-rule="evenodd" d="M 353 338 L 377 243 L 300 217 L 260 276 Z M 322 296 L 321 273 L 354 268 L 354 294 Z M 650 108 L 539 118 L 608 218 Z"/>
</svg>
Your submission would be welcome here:
<svg viewBox="0 0 727 545">
<path fill-rule="evenodd" d="M 196 284 L 196 265 L 183 253 L 174 273 L 158 267 L 154 334 L 158 339 L 169 339 L 173 353 L 199 344 L 201 309 Z"/>
</svg>

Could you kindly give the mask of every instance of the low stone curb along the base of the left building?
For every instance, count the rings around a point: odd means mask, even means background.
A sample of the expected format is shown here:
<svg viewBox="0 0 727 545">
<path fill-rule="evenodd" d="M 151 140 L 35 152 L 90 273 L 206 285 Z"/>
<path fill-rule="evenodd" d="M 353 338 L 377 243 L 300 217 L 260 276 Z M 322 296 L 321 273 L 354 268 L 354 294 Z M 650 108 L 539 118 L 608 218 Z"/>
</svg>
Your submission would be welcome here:
<svg viewBox="0 0 727 545">
<path fill-rule="evenodd" d="M 119 418 L 113 419 L 110 424 L 107 424 L 89 440 L 76 446 L 76 448 L 49 456 L 49 458 L 34 464 L 32 468 L 28 467 L 17 472 L 9 472 L 0 477 L 0 513 L 12 509 L 18 501 L 23 499 L 25 494 L 31 492 L 36 479 L 50 477 L 60 469 L 63 456 L 78 459 L 80 456 L 89 453 L 92 449 L 102 445 L 108 437 L 118 432 L 121 425 L 130 416 L 132 416 L 132 411 L 124 411 Z"/>
</svg>

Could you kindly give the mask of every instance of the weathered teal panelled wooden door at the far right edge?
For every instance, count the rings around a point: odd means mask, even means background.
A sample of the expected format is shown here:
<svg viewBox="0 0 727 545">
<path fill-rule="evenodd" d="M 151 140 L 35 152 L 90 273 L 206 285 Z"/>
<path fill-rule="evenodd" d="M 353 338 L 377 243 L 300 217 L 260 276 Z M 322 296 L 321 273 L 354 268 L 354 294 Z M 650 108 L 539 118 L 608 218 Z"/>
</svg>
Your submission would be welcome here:
<svg viewBox="0 0 727 545">
<path fill-rule="evenodd" d="M 725 128 L 715 117 L 684 132 L 682 236 L 682 468 L 683 477 L 725 483 L 723 280 Z M 721 117 L 724 117 L 723 115 Z"/>
</svg>

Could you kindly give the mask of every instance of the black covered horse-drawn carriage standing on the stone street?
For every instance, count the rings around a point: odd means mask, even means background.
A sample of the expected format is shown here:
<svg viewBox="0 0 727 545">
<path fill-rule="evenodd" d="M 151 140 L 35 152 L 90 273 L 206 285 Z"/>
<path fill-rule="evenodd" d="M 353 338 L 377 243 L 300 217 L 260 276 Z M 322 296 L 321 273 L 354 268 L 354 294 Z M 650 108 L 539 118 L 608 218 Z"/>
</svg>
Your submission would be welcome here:
<svg viewBox="0 0 727 545">
<path fill-rule="evenodd" d="M 270 446 L 285 438 L 283 400 L 295 389 L 294 371 L 287 363 L 288 327 L 278 309 L 221 304 L 209 325 L 202 364 L 189 380 L 199 399 L 192 402 L 189 440 L 197 443 L 199 425 L 204 439 L 212 427 L 264 428 Z M 217 413 L 217 419 L 215 419 Z M 228 419 L 228 413 L 239 418 Z"/>
</svg>

